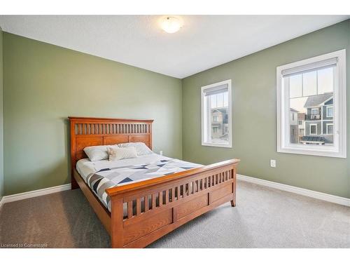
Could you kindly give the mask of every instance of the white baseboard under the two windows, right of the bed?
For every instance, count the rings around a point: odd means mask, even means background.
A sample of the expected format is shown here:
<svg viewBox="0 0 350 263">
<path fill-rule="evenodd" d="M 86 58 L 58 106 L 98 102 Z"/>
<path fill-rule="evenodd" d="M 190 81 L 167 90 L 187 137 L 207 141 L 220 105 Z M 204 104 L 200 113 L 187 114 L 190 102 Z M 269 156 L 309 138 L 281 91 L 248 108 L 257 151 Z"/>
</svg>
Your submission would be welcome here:
<svg viewBox="0 0 350 263">
<path fill-rule="evenodd" d="M 332 194 L 321 193 L 320 191 L 312 191 L 300 187 L 292 187 L 288 184 L 280 184 L 279 182 L 271 182 L 267 180 L 258 179 L 246 175 L 237 175 L 237 179 L 252 182 L 253 184 L 264 185 L 265 187 L 271 187 L 282 191 L 289 191 L 294 194 L 300 194 L 302 196 L 309 196 L 312 198 L 328 201 L 331 203 L 338 203 L 339 205 L 350 206 L 350 198 L 344 198 L 341 196 L 333 196 Z"/>
</svg>

